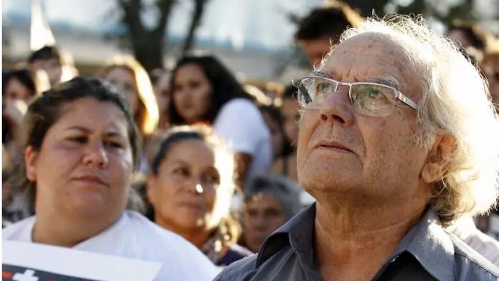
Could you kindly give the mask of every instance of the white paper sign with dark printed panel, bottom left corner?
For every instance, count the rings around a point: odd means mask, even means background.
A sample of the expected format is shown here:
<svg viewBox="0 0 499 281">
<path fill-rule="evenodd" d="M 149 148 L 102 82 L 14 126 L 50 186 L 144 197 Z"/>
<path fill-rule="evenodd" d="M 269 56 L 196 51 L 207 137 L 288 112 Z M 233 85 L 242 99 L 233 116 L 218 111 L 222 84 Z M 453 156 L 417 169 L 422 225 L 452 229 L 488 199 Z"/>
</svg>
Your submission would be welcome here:
<svg viewBox="0 0 499 281">
<path fill-rule="evenodd" d="M 4 281 L 152 281 L 159 269 L 157 262 L 2 241 Z"/>
</svg>

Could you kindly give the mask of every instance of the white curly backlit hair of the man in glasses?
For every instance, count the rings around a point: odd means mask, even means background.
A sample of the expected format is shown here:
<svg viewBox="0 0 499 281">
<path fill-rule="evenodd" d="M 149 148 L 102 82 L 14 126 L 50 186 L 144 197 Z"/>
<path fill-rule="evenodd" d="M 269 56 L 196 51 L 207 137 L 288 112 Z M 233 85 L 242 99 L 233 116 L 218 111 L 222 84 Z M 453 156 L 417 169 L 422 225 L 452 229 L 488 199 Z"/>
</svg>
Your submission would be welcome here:
<svg viewBox="0 0 499 281">
<path fill-rule="evenodd" d="M 347 29 L 340 43 L 366 32 L 385 34 L 404 47 L 419 69 L 418 145 L 431 147 L 435 137 L 453 138 L 454 153 L 435 183 L 431 199 L 440 221 L 450 225 L 462 215 L 488 212 L 498 196 L 499 118 L 487 82 L 450 40 L 433 32 L 421 16 L 372 17 Z M 319 68 L 323 68 L 329 54 Z"/>
</svg>

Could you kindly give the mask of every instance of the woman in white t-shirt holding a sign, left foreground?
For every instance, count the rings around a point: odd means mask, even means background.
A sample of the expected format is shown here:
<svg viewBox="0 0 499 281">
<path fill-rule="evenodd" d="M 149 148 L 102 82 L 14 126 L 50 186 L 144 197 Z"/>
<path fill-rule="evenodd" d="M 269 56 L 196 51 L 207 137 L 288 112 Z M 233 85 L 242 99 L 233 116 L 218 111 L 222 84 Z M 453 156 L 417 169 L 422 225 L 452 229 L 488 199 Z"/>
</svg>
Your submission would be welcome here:
<svg viewBox="0 0 499 281">
<path fill-rule="evenodd" d="M 77 77 L 30 104 L 12 182 L 35 216 L 6 227 L 3 239 L 159 262 L 155 280 L 211 280 L 219 269 L 194 245 L 125 211 L 139 133 L 114 91 Z"/>
</svg>

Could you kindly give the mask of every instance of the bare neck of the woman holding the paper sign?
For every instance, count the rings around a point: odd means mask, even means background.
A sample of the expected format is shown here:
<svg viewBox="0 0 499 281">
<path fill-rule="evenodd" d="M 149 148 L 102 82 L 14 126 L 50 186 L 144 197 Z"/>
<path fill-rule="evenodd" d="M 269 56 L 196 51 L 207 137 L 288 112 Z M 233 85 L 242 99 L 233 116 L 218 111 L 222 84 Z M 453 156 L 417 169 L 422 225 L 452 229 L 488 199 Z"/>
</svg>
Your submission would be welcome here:
<svg viewBox="0 0 499 281">
<path fill-rule="evenodd" d="M 40 214 L 40 212 L 37 212 Z M 38 215 L 33 227 L 33 242 L 72 248 L 75 245 L 106 230 L 118 216 L 113 218 L 90 217 L 68 218 L 63 216 Z M 43 214 L 43 212 L 42 212 Z"/>
</svg>

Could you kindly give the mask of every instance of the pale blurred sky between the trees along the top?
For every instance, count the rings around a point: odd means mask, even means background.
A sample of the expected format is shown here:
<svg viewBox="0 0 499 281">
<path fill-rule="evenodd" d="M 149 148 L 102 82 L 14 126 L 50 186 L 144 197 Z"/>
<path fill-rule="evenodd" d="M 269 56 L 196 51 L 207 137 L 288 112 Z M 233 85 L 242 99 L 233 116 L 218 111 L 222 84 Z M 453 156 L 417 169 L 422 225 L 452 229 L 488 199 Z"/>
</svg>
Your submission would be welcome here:
<svg viewBox="0 0 499 281">
<path fill-rule="evenodd" d="M 154 0 L 144 0 L 146 4 Z M 102 30 L 116 23 L 113 11 L 116 0 L 41 0 L 49 22 L 65 22 L 85 29 Z M 180 0 L 172 14 L 169 32 L 183 35 L 187 31 L 192 1 Z M 294 26 L 286 19 L 289 11 L 306 13 L 320 0 L 210 0 L 198 29 L 200 39 L 226 41 L 235 46 L 254 44 L 262 47 L 287 46 Z M 30 0 L 3 0 L 2 13 L 29 15 Z M 142 21 L 152 26 L 157 19 L 153 9 L 146 10 Z"/>
</svg>

